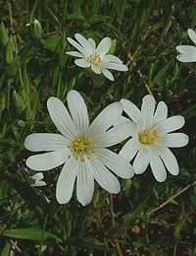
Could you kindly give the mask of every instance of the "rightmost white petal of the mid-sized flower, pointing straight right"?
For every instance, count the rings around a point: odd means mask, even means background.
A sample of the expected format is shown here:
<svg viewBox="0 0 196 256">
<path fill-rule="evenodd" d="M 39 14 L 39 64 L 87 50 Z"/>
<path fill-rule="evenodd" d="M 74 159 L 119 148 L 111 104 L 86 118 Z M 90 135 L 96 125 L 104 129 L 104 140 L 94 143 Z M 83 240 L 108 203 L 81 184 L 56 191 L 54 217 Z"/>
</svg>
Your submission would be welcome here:
<svg viewBox="0 0 196 256">
<path fill-rule="evenodd" d="M 184 133 L 171 133 L 163 138 L 163 145 L 169 148 L 180 148 L 188 144 L 189 138 Z"/>
</svg>

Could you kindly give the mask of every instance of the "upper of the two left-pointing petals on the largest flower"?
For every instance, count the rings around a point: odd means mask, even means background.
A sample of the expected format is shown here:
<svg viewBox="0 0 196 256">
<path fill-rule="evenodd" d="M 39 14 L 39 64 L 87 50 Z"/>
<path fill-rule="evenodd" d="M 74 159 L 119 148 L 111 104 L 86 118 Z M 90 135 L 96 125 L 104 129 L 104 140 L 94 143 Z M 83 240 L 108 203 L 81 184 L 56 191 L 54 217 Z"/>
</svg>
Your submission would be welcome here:
<svg viewBox="0 0 196 256">
<path fill-rule="evenodd" d="M 61 134 L 34 133 L 25 138 L 25 149 L 32 152 L 58 151 L 68 145 L 68 140 Z"/>
</svg>

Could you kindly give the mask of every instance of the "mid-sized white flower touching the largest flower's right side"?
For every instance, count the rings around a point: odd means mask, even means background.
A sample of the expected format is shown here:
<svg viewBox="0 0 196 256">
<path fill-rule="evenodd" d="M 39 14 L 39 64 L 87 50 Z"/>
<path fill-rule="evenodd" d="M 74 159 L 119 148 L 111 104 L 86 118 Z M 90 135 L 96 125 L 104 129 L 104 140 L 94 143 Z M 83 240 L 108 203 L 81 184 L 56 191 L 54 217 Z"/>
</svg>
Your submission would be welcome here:
<svg viewBox="0 0 196 256">
<path fill-rule="evenodd" d="M 172 133 L 184 125 L 184 118 L 175 115 L 167 118 L 168 107 L 160 101 L 156 108 L 154 96 L 144 96 L 141 111 L 129 100 L 122 99 L 123 110 L 135 123 L 131 139 L 123 146 L 120 156 L 133 160 L 133 169 L 141 174 L 150 163 L 153 175 L 159 182 L 167 178 L 166 168 L 177 175 L 179 167 L 169 148 L 186 146 L 188 136 L 184 133 Z M 156 109 L 155 109 L 156 108 Z"/>
</svg>

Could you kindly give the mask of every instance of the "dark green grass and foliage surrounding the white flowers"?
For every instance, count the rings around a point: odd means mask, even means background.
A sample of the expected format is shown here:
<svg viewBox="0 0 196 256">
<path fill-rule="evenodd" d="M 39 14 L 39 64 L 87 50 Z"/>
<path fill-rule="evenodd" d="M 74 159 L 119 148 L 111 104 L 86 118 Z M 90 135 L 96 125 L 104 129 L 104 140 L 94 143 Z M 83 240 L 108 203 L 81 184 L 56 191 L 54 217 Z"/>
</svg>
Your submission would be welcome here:
<svg viewBox="0 0 196 256">
<path fill-rule="evenodd" d="M 176 45 L 191 44 L 187 29 L 196 29 L 195 1 L 0 0 L 0 15 L 1 255 L 121 255 L 120 248 L 123 255 L 196 255 L 196 66 L 175 59 Z M 42 31 L 25 26 L 34 19 Z M 74 32 L 97 42 L 117 39 L 115 54 L 129 71 L 114 72 L 110 82 L 75 67 L 66 55 L 72 48 L 66 37 Z M 46 187 L 30 187 L 25 137 L 55 132 L 46 100 L 66 102 L 71 89 L 85 97 L 92 118 L 122 97 L 140 105 L 149 90 L 165 100 L 170 115 L 185 116 L 182 131 L 190 136 L 187 147 L 173 151 L 180 174 L 169 174 L 164 183 L 150 170 L 122 179 L 114 197 L 96 186 L 87 207 L 75 195 L 58 205 L 61 168 L 45 172 Z"/>
</svg>

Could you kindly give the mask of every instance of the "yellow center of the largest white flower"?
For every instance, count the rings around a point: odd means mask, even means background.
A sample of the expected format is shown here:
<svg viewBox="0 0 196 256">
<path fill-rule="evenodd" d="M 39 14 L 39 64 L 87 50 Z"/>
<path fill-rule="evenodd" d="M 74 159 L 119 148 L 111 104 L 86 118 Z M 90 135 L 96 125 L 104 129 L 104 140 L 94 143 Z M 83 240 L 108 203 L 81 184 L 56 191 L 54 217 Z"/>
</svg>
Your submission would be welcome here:
<svg viewBox="0 0 196 256">
<path fill-rule="evenodd" d="M 72 143 L 72 153 L 74 158 L 83 159 L 93 153 L 93 141 L 88 137 L 77 137 Z"/>
</svg>

